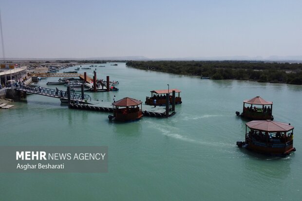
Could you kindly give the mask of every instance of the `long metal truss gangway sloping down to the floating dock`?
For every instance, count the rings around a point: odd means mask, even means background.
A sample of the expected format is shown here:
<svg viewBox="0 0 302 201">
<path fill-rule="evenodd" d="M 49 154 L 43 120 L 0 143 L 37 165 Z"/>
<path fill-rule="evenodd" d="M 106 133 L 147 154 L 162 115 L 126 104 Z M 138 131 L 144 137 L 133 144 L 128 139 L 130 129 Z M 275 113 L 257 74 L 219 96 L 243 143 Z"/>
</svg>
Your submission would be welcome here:
<svg viewBox="0 0 302 201">
<path fill-rule="evenodd" d="M 54 89 L 43 88 L 43 87 L 34 87 L 34 86 L 30 86 L 30 85 L 20 85 L 20 86 L 14 85 L 13 88 L 16 90 L 19 90 L 19 91 L 26 91 L 29 93 L 51 96 L 54 98 L 68 99 L 67 91 L 62 91 L 62 90 L 57 90 L 57 89 L 54 90 Z M 70 99 L 71 100 L 91 101 L 90 95 L 84 94 L 84 99 L 83 99 L 81 93 L 74 93 L 74 92 L 70 92 Z"/>
</svg>

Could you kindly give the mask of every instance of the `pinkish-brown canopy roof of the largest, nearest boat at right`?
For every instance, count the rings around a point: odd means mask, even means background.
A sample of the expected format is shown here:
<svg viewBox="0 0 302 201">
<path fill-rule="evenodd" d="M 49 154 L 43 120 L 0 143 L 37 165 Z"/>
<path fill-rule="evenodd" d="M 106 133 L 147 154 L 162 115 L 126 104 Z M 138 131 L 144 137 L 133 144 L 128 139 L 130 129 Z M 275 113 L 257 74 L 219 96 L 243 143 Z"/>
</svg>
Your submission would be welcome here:
<svg viewBox="0 0 302 201">
<path fill-rule="evenodd" d="M 287 132 L 294 129 L 294 127 L 271 120 L 262 120 L 262 121 L 251 121 L 245 124 L 248 128 L 255 130 L 268 131 L 268 132 Z"/>
</svg>

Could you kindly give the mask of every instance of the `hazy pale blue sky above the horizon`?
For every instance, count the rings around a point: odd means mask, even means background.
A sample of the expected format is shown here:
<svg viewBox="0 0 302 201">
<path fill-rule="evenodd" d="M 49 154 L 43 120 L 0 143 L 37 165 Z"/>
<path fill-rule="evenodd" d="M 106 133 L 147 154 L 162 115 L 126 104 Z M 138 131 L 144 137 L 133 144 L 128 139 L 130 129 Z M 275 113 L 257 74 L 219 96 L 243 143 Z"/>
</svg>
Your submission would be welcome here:
<svg viewBox="0 0 302 201">
<path fill-rule="evenodd" d="M 302 0 L 1 0 L 0 9 L 6 57 L 302 55 Z"/>
</svg>

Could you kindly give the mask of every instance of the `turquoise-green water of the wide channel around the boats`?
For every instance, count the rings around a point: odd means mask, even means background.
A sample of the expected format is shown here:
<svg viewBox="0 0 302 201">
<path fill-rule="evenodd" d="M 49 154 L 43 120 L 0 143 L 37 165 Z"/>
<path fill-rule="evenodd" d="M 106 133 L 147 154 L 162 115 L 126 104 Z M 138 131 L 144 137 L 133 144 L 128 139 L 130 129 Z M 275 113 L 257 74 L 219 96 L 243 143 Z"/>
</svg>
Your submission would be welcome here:
<svg viewBox="0 0 302 201">
<path fill-rule="evenodd" d="M 97 78 L 110 75 L 120 84 L 119 91 L 89 93 L 94 100 L 144 101 L 149 91 L 169 84 L 183 91 L 183 104 L 169 119 L 117 124 L 108 113 L 69 110 L 56 98 L 28 95 L 27 103 L 0 110 L 0 146 L 108 146 L 109 172 L 0 173 L 1 201 L 301 200 L 302 86 L 201 80 L 125 63 L 96 68 Z M 235 111 L 256 95 L 273 101 L 276 121 L 295 127 L 295 153 L 268 157 L 236 146 L 244 140 L 245 121 Z"/>
</svg>

